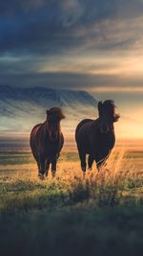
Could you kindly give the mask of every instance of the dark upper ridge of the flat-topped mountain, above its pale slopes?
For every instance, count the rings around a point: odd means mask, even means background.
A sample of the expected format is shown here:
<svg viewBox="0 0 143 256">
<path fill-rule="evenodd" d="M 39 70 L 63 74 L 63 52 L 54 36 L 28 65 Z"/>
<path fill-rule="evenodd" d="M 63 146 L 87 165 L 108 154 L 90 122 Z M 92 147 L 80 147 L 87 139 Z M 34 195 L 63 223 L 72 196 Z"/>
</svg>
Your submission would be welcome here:
<svg viewBox="0 0 143 256">
<path fill-rule="evenodd" d="M 91 104 L 96 106 L 96 100 L 86 91 L 73 91 L 65 89 L 52 89 L 50 87 L 15 87 L 10 85 L 0 85 L 0 100 L 14 99 L 14 100 L 25 100 L 25 95 L 27 94 L 27 99 L 33 101 L 40 101 L 42 97 L 44 100 L 51 98 L 51 100 L 59 105 L 65 105 L 65 100 L 69 101 L 70 104 L 76 102 L 87 105 Z M 69 96 L 69 97 L 68 97 Z M 82 102 L 82 103 L 83 103 Z M 67 105 L 67 103 L 66 103 Z"/>
</svg>

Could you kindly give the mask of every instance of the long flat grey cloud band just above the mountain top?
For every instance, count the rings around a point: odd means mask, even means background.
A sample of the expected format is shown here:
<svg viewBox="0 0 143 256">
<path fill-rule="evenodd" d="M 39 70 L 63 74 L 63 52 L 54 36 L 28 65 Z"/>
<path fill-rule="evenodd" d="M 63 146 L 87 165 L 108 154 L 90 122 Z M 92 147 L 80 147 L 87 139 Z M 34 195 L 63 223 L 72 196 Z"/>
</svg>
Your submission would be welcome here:
<svg viewBox="0 0 143 256">
<path fill-rule="evenodd" d="M 11 84 L 16 86 L 47 86 L 68 89 L 96 89 L 102 87 L 110 88 L 142 88 L 142 78 L 122 78 L 119 75 L 89 75 L 80 73 L 16 73 L 0 74 L 0 84 Z"/>
</svg>

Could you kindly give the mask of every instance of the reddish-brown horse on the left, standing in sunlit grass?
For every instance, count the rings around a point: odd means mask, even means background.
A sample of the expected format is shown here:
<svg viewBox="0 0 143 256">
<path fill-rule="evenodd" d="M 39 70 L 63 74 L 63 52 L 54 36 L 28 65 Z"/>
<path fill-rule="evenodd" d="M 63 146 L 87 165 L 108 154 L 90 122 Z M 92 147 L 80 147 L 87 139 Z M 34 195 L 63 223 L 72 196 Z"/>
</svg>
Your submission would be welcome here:
<svg viewBox="0 0 143 256">
<path fill-rule="evenodd" d="M 56 173 L 56 162 L 64 144 L 64 136 L 60 129 L 60 121 L 64 118 L 59 107 L 52 107 L 47 110 L 46 121 L 31 130 L 31 151 L 37 162 L 40 177 L 48 175 L 50 164 L 52 175 Z"/>
</svg>

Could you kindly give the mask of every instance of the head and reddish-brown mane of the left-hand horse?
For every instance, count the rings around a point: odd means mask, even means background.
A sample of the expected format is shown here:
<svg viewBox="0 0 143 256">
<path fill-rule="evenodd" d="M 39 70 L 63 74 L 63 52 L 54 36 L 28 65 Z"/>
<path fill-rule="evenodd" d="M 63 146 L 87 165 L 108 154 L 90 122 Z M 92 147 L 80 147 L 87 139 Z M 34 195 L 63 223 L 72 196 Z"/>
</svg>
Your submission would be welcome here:
<svg viewBox="0 0 143 256">
<path fill-rule="evenodd" d="M 65 116 L 60 107 L 51 107 L 49 110 L 47 110 L 46 124 L 51 141 L 57 139 L 60 131 L 60 121 L 64 118 Z"/>
</svg>

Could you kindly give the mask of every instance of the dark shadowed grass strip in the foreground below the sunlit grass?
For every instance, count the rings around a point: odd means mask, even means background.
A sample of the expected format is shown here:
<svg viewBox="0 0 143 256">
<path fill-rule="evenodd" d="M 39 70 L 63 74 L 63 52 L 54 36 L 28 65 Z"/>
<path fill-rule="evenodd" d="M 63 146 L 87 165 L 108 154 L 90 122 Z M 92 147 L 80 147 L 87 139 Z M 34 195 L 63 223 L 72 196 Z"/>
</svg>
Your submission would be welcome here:
<svg viewBox="0 0 143 256">
<path fill-rule="evenodd" d="M 142 256 L 142 223 L 140 206 L 2 213 L 1 255 Z"/>
</svg>

